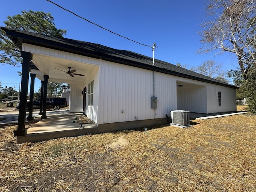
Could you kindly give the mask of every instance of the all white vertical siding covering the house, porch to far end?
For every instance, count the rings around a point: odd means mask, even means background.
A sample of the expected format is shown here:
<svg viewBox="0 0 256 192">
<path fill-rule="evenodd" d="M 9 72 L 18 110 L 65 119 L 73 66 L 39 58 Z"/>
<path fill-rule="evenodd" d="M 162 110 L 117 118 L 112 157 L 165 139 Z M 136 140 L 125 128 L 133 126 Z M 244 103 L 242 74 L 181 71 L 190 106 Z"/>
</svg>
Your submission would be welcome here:
<svg viewBox="0 0 256 192">
<path fill-rule="evenodd" d="M 93 81 L 93 98 L 86 95 L 86 115 L 96 124 L 146 120 L 154 118 L 150 107 L 153 96 L 153 72 L 124 64 L 80 56 L 50 48 L 22 44 L 22 51 L 33 54 L 42 74 L 49 74 L 51 82 L 71 84 L 70 112 L 82 112 L 84 87 Z M 42 63 L 47 58 L 47 64 Z M 87 76 L 81 81 L 70 78 L 54 79 L 50 61 L 68 61 L 79 64 Z M 40 75 L 42 75 L 40 74 Z M 39 76 L 39 75 L 38 75 Z M 176 82 L 187 86 L 176 87 Z M 87 90 L 88 92 L 88 90 Z M 218 92 L 221 92 L 221 106 L 218 106 Z M 91 93 L 90 93 L 91 94 Z M 197 80 L 176 77 L 155 72 L 155 95 L 158 98 L 156 118 L 164 118 L 171 110 L 183 109 L 190 112 L 214 113 L 236 110 L 236 90 Z M 88 106 L 93 107 L 88 107 Z M 121 113 L 123 110 L 123 113 Z M 121 129 L 121 128 L 120 128 Z"/>
</svg>

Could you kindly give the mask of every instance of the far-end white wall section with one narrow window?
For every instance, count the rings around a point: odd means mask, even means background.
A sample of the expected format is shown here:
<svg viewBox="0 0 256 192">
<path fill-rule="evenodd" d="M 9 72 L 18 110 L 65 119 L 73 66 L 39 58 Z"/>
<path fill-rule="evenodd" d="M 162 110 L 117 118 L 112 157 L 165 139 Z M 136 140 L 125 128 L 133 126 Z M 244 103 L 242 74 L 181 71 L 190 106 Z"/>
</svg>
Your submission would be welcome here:
<svg viewBox="0 0 256 192">
<path fill-rule="evenodd" d="M 218 105 L 218 92 L 221 92 L 221 106 Z M 207 113 L 236 111 L 236 89 L 207 84 Z"/>
</svg>

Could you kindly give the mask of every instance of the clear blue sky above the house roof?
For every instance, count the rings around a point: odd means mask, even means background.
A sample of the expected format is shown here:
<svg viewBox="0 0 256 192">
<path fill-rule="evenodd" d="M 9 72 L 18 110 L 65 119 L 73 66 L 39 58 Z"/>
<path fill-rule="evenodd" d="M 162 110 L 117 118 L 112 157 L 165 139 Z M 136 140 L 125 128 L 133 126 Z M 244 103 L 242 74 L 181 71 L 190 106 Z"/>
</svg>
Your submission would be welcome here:
<svg viewBox="0 0 256 192">
<path fill-rule="evenodd" d="M 205 18 L 201 0 L 52 0 L 56 4 L 122 36 L 151 46 L 156 43 L 155 58 L 172 64 L 179 62 L 188 69 L 206 60 L 222 64 L 223 70 L 237 66 L 230 54 L 197 54 L 202 47 L 198 31 Z M 152 57 L 152 49 L 121 38 L 82 20 L 46 0 L 12 0 L 1 3 L 0 26 L 7 16 L 21 14 L 22 10 L 50 12 L 56 27 L 66 29 L 65 38 L 93 42 L 111 48 L 130 50 Z M 21 67 L 0 64 L 2 86 L 16 86 L 18 90 Z M 40 88 L 36 80 L 35 91 Z"/>
</svg>

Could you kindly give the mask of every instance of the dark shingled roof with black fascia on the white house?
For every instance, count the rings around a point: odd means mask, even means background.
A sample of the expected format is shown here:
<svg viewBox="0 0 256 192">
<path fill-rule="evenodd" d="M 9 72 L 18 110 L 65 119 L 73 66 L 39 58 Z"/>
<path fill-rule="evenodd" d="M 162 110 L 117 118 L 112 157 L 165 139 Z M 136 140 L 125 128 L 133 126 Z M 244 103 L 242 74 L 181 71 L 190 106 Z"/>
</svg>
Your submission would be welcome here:
<svg viewBox="0 0 256 192">
<path fill-rule="evenodd" d="M 129 66 L 144 68 L 148 70 L 155 70 L 156 72 L 162 72 L 165 74 L 189 78 L 202 82 L 227 86 L 230 88 L 237 88 L 236 86 L 224 83 L 208 76 L 204 76 L 202 74 L 198 74 L 196 72 L 161 60 L 155 59 L 153 65 L 152 58 L 135 52 L 118 50 L 100 44 L 94 44 L 79 40 L 48 36 L 43 34 L 37 34 L 34 32 L 27 32 L 23 30 L 16 30 L 4 27 L 1 28 L 20 49 L 22 47 L 22 43 L 33 44 L 46 48 L 52 48 L 74 54 L 89 56 L 92 58 L 101 58 L 102 60 L 107 60 Z"/>
</svg>

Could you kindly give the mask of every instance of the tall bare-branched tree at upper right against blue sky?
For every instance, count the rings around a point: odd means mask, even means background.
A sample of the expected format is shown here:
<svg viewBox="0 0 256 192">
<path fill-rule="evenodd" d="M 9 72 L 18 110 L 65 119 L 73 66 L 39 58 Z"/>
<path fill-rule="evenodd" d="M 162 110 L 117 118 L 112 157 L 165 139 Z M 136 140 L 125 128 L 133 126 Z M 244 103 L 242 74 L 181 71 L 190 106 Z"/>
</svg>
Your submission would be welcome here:
<svg viewBox="0 0 256 192">
<path fill-rule="evenodd" d="M 255 0 L 208 0 L 208 21 L 202 24 L 204 48 L 199 52 L 218 51 L 236 54 L 244 79 L 256 63 Z"/>
</svg>

